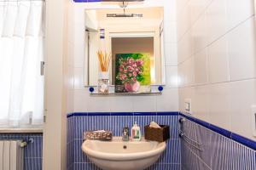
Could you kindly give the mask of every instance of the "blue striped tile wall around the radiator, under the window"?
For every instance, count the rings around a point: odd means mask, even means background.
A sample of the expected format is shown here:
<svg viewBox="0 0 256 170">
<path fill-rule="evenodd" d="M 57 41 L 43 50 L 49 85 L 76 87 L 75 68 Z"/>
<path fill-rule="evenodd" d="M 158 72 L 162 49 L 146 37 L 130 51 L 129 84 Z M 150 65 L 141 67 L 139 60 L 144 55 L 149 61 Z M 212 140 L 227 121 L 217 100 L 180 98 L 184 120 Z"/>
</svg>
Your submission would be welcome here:
<svg viewBox="0 0 256 170">
<path fill-rule="evenodd" d="M 3 139 L 33 139 L 33 143 L 28 144 L 24 149 L 24 170 L 42 169 L 42 133 L 0 133 L 0 140 Z"/>
</svg>

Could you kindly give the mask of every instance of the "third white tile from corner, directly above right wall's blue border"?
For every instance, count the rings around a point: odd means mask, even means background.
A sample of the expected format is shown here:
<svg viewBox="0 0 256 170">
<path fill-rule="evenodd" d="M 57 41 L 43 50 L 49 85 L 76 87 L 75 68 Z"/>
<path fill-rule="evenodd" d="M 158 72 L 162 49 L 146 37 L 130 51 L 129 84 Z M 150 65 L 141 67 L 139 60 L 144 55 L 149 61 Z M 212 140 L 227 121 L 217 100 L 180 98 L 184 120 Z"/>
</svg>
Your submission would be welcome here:
<svg viewBox="0 0 256 170">
<path fill-rule="evenodd" d="M 230 84 L 220 83 L 209 87 L 209 118 L 218 127 L 231 130 Z"/>
</svg>

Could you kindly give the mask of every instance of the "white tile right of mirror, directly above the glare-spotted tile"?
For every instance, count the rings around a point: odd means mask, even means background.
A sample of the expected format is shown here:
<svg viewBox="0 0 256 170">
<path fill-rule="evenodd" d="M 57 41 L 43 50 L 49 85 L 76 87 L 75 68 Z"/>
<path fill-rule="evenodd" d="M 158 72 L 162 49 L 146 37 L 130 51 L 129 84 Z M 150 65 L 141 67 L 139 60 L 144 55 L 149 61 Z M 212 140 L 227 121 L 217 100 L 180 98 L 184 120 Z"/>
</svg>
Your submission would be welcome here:
<svg viewBox="0 0 256 170">
<path fill-rule="evenodd" d="M 177 65 L 177 43 L 165 43 L 166 65 Z"/>
</svg>

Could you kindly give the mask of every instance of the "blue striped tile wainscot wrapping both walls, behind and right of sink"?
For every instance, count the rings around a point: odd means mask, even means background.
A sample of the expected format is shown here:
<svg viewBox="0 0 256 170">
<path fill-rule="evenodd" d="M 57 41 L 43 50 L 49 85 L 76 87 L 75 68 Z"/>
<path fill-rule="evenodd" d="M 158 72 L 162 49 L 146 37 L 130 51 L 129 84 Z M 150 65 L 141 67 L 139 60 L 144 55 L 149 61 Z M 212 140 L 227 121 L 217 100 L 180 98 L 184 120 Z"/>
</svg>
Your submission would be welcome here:
<svg viewBox="0 0 256 170">
<path fill-rule="evenodd" d="M 106 129 L 120 136 L 122 127 L 135 121 L 141 127 L 151 121 L 171 127 L 166 152 L 148 170 L 256 170 L 255 141 L 183 113 L 72 113 L 67 117 L 68 170 L 99 170 L 81 150 L 84 131 Z M 181 117 L 186 118 L 182 126 Z M 179 138 L 180 132 L 192 140 Z"/>
</svg>

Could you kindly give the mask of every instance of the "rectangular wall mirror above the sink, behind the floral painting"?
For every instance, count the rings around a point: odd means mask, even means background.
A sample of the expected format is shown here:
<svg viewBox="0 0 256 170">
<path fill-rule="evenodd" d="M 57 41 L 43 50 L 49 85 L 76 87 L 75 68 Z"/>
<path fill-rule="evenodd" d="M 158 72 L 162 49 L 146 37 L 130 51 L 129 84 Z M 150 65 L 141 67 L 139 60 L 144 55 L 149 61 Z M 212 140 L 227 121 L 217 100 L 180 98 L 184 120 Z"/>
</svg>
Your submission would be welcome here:
<svg viewBox="0 0 256 170">
<path fill-rule="evenodd" d="M 163 7 L 129 8 L 129 5 L 122 4 L 120 8 L 86 9 L 85 86 L 98 85 L 100 72 L 98 51 L 111 54 L 108 66 L 110 85 L 115 85 L 119 80 L 117 57 L 120 54 L 148 56 L 149 85 L 163 85 L 165 82 L 163 20 Z"/>
</svg>

